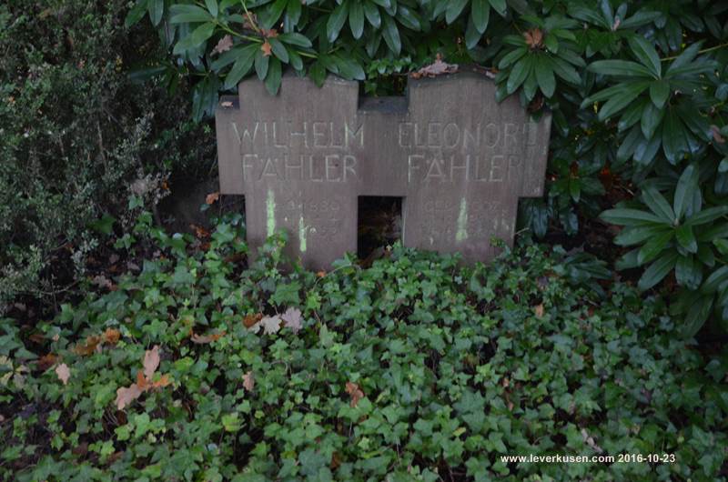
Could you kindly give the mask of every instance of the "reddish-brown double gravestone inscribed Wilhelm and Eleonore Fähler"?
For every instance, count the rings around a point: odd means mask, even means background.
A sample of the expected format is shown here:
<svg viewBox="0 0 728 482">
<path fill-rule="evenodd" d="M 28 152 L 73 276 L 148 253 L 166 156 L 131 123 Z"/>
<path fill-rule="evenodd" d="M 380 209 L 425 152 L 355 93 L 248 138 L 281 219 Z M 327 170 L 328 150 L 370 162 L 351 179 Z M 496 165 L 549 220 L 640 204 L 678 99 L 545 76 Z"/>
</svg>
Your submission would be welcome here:
<svg viewBox="0 0 728 482">
<path fill-rule="evenodd" d="M 403 198 L 405 246 L 490 260 L 491 236 L 512 244 L 519 198 L 542 195 L 551 115 L 497 103 L 474 72 L 363 99 L 357 82 L 285 75 L 276 96 L 241 82 L 216 128 L 220 192 L 245 195 L 248 244 L 286 229 L 289 253 L 326 269 L 357 251 L 359 196 Z"/>
</svg>

